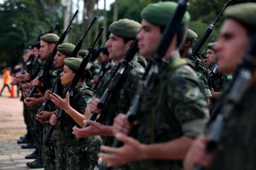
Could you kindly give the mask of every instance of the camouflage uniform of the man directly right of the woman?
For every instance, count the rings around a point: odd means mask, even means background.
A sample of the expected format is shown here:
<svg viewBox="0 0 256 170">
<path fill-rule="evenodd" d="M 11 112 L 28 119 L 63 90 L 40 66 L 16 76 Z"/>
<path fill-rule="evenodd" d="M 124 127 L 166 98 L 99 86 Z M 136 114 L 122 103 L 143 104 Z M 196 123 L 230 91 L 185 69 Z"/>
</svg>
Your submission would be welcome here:
<svg viewBox="0 0 256 170">
<path fill-rule="evenodd" d="M 96 89 L 96 96 L 102 96 L 105 88 L 107 88 L 108 81 L 115 71 L 113 67 L 111 71 L 108 71 L 103 77 L 102 81 Z M 121 77 L 119 84 L 115 88 L 115 93 L 112 93 L 110 103 L 107 104 L 101 116 L 99 122 L 103 125 L 112 125 L 113 119 L 118 113 L 126 113 L 131 105 L 134 93 L 136 93 L 137 85 L 140 77 L 144 72 L 144 68 L 137 62 L 137 56 L 132 60 L 131 65 L 125 69 L 123 76 Z M 112 145 L 113 137 L 103 137 L 105 145 Z"/>
</svg>

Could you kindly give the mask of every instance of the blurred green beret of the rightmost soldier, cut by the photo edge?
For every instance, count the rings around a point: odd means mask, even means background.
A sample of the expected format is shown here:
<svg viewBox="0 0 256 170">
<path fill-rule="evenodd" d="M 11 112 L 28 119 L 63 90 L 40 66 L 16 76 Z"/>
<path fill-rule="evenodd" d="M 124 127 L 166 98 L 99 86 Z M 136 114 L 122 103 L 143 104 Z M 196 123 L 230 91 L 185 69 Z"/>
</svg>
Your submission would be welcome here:
<svg viewBox="0 0 256 170">
<path fill-rule="evenodd" d="M 226 18 L 233 18 L 249 29 L 256 29 L 256 3 L 243 3 L 230 6 L 224 11 Z"/>
</svg>

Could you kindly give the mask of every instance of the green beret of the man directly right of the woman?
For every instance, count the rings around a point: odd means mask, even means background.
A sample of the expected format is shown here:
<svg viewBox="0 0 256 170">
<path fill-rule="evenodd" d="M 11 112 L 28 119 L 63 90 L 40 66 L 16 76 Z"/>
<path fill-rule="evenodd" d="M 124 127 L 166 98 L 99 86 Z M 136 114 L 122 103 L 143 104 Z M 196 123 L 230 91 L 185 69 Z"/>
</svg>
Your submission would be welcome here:
<svg viewBox="0 0 256 170">
<path fill-rule="evenodd" d="M 135 38 L 139 30 L 141 30 L 141 24 L 128 19 L 115 21 L 109 26 L 110 33 L 125 38 Z"/>
</svg>

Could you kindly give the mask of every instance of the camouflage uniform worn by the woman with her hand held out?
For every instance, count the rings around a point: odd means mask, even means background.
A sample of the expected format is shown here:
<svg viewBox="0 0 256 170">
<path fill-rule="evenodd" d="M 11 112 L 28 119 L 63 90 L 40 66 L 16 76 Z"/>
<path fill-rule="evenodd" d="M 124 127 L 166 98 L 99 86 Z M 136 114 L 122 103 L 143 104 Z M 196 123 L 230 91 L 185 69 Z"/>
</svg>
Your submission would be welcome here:
<svg viewBox="0 0 256 170">
<path fill-rule="evenodd" d="M 66 90 L 64 90 L 66 91 Z M 66 94 L 63 94 L 66 95 Z M 70 97 L 70 105 L 76 111 L 83 114 L 87 103 L 91 101 L 93 93 L 86 84 L 82 84 L 80 88 L 75 88 L 73 91 L 73 96 Z M 99 136 L 88 137 L 83 139 L 83 141 L 78 141 L 76 137 L 72 134 L 72 128 L 74 125 L 79 125 L 74 122 L 71 116 L 65 114 L 64 118 L 59 124 L 59 128 L 63 134 L 66 146 L 61 150 L 57 150 L 57 155 L 60 152 L 66 152 L 66 161 L 68 170 L 73 169 L 94 169 L 98 163 L 98 152 L 100 152 L 100 145 L 102 145 L 102 139 Z M 66 149 L 64 151 L 63 149 Z"/>
</svg>

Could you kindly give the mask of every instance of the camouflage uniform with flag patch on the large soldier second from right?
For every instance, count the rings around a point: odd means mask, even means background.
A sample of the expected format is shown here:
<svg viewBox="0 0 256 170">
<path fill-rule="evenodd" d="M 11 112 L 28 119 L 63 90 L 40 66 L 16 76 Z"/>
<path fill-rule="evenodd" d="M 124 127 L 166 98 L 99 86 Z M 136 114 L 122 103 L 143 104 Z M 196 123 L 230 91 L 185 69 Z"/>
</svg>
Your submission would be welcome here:
<svg viewBox="0 0 256 170">
<path fill-rule="evenodd" d="M 179 64 L 181 60 L 175 54 L 161 64 L 160 74 L 143 91 L 139 125 L 132 132 L 143 144 L 168 142 L 183 135 L 194 139 L 209 118 L 201 82 L 187 62 Z M 182 169 L 182 160 L 135 161 L 131 169 Z"/>
</svg>

